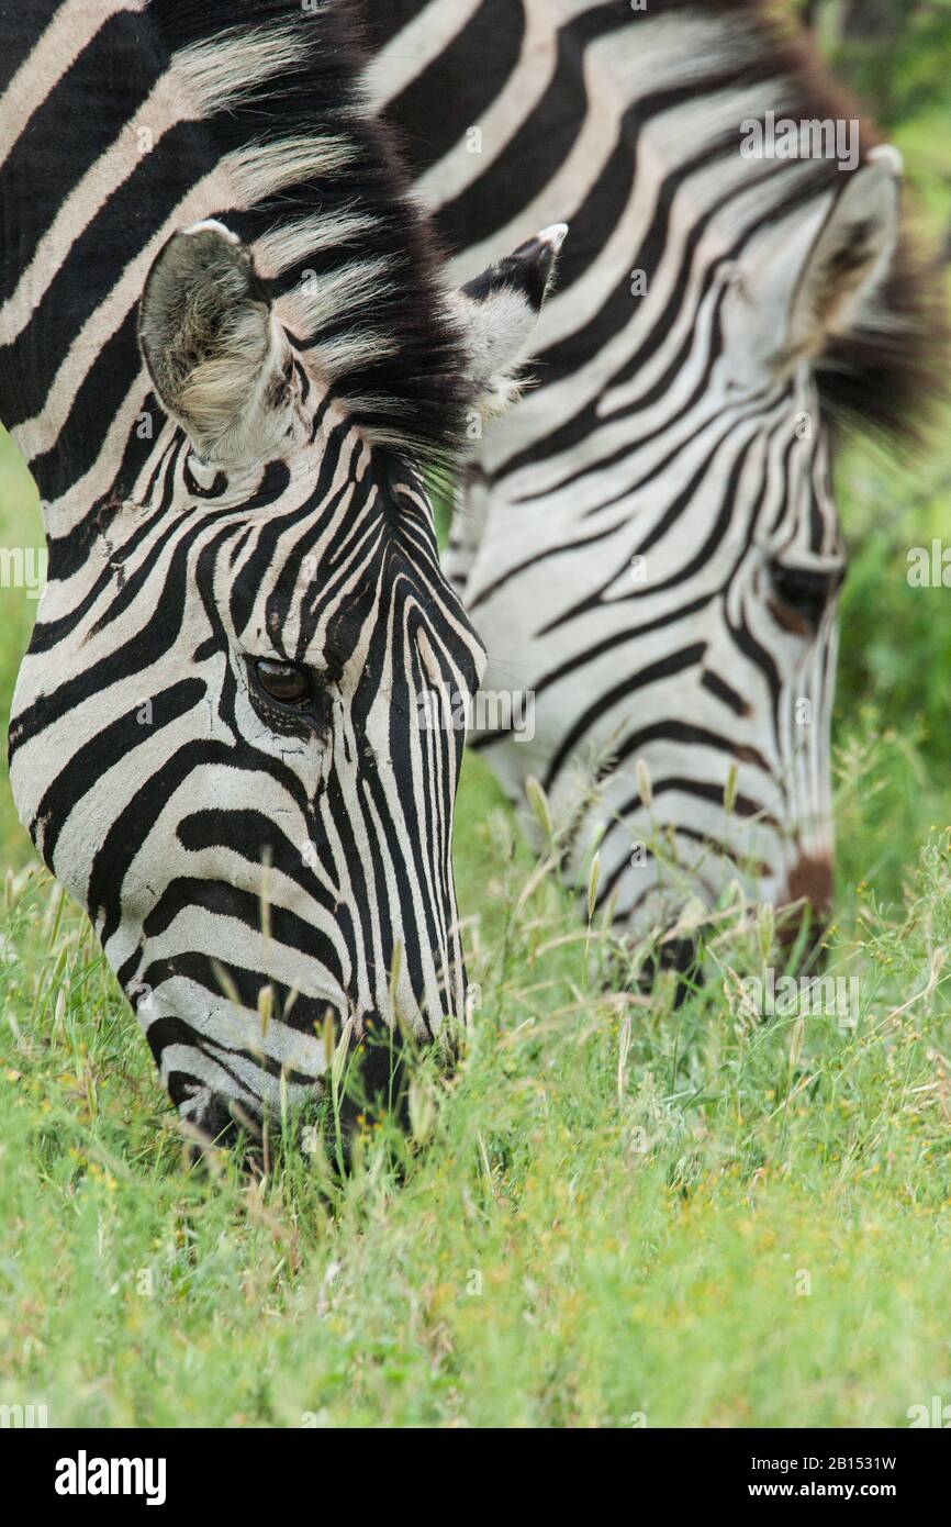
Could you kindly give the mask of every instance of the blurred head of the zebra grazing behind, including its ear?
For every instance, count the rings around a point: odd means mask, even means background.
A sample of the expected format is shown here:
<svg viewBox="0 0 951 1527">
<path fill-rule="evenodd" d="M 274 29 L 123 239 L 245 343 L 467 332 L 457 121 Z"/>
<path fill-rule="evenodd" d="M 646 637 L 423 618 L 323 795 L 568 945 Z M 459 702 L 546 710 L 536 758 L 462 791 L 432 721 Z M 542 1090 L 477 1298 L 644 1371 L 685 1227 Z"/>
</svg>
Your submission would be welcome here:
<svg viewBox="0 0 951 1527">
<path fill-rule="evenodd" d="M 872 151 L 746 229 L 727 203 L 679 276 L 670 240 L 633 316 L 608 289 L 594 337 L 571 307 L 592 257 L 572 267 L 569 244 L 542 388 L 487 438 L 453 527 L 487 689 L 531 696 L 531 734 L 490 719 L 473 742 L 513 800 L 543 783 L 574 880 L 597 846 L 598 910 L 664 959 L 690 957 L 682 909 L 737 883 L 788 909 L 789 941 L 827 922 L 846 573 L 829 395 L 875 423 L 881 383 L 849 395 L 855 357 L 913 370 L 898 169 Z"/>
</svg>

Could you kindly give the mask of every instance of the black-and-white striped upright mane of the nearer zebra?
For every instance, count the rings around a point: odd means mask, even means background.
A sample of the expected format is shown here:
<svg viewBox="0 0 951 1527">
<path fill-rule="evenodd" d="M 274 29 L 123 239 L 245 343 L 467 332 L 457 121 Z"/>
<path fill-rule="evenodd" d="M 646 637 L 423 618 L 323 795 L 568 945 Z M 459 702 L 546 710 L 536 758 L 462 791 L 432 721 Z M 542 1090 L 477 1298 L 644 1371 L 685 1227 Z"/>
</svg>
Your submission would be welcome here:
<svg viewBox="0 0 951 1527">
<path fill-rule="evenodd" d="M 359 8 L 230 0 L 226 15 L 223 27 L 209 0 L 145 6 L 234 191 L 235 209 L 221 215 L 368 438 L 452 458 L 464 357 L 398 147 L 360 92 Z"/>
</svg>

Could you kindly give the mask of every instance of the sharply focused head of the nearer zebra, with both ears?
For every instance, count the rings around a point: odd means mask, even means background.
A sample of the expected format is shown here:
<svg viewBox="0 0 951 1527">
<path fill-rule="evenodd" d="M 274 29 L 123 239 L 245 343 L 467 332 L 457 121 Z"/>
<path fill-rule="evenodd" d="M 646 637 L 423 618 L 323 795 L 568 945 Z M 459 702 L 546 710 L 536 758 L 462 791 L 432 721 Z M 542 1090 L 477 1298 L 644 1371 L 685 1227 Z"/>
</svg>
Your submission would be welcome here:
<svg viewBox="0 0 951 1527">
<path fill-rule="evenodd" d="M 447 305 L 479 408 L 557 241 L 504 263 L 502 310 L 488 278 Z M 168 421 L 82 585 L 44 596 L 12 786 L 172 1101 L 218 1133 L 313 1090 L 328 1019 L 464 1017 L 452 818 L 484 651 L 418 466 L 354 428 L 232 231 L 165 244 L 139 341 Z"/>
</svg>

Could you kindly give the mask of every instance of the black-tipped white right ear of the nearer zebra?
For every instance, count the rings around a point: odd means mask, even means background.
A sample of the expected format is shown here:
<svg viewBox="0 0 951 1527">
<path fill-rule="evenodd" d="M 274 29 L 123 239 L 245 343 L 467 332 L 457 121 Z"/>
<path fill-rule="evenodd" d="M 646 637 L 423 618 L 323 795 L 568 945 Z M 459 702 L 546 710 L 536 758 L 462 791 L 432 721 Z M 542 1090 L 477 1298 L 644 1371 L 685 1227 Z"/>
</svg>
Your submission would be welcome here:
<svg viewBox="0 0 951 1527">
<path fill-rule="evenodd" d="M 452 295 L 482 414 L 501 414 L 519 394 L 519 373 L 548 295 L 566 223 L 543 229 Z"/>
</svg>

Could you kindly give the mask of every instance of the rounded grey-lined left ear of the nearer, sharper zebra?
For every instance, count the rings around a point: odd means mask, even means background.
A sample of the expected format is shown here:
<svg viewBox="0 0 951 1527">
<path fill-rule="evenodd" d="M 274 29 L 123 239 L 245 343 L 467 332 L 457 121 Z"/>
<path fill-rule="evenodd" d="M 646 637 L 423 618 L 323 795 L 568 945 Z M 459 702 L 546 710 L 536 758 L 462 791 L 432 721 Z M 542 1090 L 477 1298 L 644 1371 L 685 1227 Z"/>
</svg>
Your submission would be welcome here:
<svg viewBox="0 0 951 1527">
<path fill-rule="evenodd" d="M 156 392 L 200 457 L 260 460 L 287 435 L 290 347 L 250 250 L 223 223 L 195 223 L 159 252 L 139 344 Z"/>
</svg>

